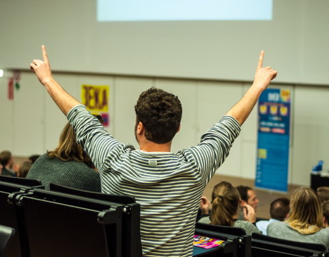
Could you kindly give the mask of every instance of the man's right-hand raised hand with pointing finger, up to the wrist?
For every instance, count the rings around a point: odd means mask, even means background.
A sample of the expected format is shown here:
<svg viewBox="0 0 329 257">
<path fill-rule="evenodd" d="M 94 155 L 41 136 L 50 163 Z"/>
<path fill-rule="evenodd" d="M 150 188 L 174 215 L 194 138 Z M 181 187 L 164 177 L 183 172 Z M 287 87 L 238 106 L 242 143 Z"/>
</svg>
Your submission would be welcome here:
<svg viewBox="0 0 329 257">
<path fill-rule="evenodd" d="M 278 71 L 271 69 L 270 66 L 263 67 L 264 51 L 260 51 L 260 56 L 258 59 L 258 65 L 256 69 L 256 74 L 254 78 L 254 86 L 265 90 L 272 79 L 276 77 Z"/>
</svg>

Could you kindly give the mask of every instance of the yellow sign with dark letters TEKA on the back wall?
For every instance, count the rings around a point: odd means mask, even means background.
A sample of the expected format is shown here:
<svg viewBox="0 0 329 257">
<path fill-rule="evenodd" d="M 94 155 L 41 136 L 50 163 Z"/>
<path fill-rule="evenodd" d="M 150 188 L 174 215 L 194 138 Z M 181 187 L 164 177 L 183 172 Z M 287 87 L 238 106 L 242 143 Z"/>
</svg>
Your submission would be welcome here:
<svg viewBox="0 0 329 257">
<path fill-rule="evenodd" d="M 81 86 L 82 104 L 90 111 L 108 112 L 110 86 Z"/>
</svg>

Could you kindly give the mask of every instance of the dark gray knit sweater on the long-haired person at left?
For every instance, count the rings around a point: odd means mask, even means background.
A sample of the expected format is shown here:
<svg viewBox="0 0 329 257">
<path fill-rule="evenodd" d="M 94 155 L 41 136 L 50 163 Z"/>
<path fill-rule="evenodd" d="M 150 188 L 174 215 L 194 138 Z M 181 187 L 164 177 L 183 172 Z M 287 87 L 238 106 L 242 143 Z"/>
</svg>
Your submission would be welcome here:
<svg viewBox="0 0 329 257">
<path fill-rule="evenodd" d="M 40 180 L 49 190 L 49 184 L 101 192 L 99 173 L 89 168 L 84 162 L 70 160 L 63 162 L 58 158 L 50 158 L 43 154 L 34 162 L 26 178 Z"/>
</svg>

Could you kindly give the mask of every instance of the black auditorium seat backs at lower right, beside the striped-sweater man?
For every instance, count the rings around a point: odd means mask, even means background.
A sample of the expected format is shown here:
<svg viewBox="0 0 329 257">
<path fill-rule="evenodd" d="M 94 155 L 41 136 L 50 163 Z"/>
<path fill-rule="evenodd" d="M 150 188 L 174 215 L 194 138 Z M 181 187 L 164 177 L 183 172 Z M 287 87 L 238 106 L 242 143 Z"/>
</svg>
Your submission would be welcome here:
<svg viewBox="0 0 329 257">
<path fill-rule="evenodd" d="M 289 241 L 263 234 L 246 235 L 242 228 L 197 223 L 195 234 L 217 238 L 224 243 L 212 249 L 194 249 L 194 257 L 328 257 L 328 249 L 317 243 Z M 196 247 L 195 247 L 196 248 Z"/>
</svg>

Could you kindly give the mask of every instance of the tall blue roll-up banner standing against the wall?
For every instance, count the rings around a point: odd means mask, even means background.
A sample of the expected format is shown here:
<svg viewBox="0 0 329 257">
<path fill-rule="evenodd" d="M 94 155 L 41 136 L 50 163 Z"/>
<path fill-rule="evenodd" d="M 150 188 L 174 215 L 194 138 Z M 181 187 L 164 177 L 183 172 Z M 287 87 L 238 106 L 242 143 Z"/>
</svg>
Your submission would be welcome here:
<svg viewBox="0 0 329 257">
<path fill-rule="evenodd" d="M 255 186 L 287 192 L 291 90 L 267 88 L 258 102 Z"/>
</svg>

